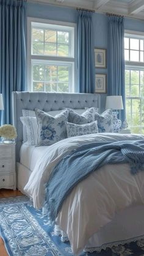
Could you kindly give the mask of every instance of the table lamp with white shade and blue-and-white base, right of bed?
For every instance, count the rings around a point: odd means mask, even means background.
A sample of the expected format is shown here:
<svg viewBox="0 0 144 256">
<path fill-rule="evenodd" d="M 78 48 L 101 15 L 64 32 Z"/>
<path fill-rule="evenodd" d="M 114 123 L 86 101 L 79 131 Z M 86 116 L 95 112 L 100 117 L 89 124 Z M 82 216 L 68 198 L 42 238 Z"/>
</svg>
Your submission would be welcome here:
<svg viewBox="0 0 144 256">
<path fill-rule="evenodd" d="M 106 98 L 106 109 L 113 109 L 113 110 L 122 110 L 123 109 L 123 100 L 122 96 L 107 96 Z M 121 127 L 121 120 L 117 119 L 117 111 L 113 111 L 113 131 L 117 133 L 120 131 Z"/>
</svg>

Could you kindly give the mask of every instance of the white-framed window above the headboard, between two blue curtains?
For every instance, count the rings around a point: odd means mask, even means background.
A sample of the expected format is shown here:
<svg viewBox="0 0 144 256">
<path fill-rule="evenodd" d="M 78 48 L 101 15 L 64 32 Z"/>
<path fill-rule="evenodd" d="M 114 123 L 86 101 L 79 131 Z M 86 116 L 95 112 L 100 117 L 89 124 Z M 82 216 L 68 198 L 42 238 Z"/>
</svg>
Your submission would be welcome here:
<svg viewBox="0 0 144 256">
<path fill-rule="evenodd" d="M 28 89 L 34 92 L 74 92 L 75 25 L 29 18 L 27 26 Z"/>
</svg>

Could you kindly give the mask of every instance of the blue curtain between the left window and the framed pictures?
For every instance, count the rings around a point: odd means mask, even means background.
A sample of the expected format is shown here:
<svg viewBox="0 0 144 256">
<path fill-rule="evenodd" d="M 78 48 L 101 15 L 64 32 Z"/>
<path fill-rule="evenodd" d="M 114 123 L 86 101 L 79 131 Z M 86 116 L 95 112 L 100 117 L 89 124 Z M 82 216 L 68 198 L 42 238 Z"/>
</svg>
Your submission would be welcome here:
<svg viewBox="0 0 144 256">
<path fill-rule="evenodd" d="M 87 93 L 93 93 L 95 88 L 92 14 L 77 10 L 78 91 Z"/>
</svg>

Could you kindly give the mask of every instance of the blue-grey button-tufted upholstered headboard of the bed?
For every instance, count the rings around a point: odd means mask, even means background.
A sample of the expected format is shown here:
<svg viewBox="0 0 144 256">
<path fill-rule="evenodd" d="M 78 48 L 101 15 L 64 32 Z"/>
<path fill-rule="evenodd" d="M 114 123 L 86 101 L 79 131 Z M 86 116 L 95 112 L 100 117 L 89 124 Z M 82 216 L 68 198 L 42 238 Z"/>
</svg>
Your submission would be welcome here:
<svg viewBox="0 0 144 256">
<path fill-rule="evenodd" d="M 16 139 L 16 160 L 20 161 L 20 147 L 23 142 L 23 127 L 20 121 L 22 109 L 43 111 L 62 108 L 101 108 L 100 95 L 95 93 L 54 93 L 54 92 L 12 92 L 13 125 L 18 133 Z"/>
</svg>

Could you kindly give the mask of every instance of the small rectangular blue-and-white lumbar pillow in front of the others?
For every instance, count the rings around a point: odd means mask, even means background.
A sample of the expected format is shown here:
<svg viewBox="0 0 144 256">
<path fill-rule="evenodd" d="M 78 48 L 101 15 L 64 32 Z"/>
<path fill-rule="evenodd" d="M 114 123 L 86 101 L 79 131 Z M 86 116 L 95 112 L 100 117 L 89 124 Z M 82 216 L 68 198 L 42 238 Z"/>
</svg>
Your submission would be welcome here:
<svg viewBox="0 0 144 256">
<path fill-rule="evenodd" d="M 67 122 L 67 136 L 82 136 L 85 134 L 98 133 L 97 121 L 85 123 L 84 125 L 76 125 L 75 123 Z"/>
</svg>

